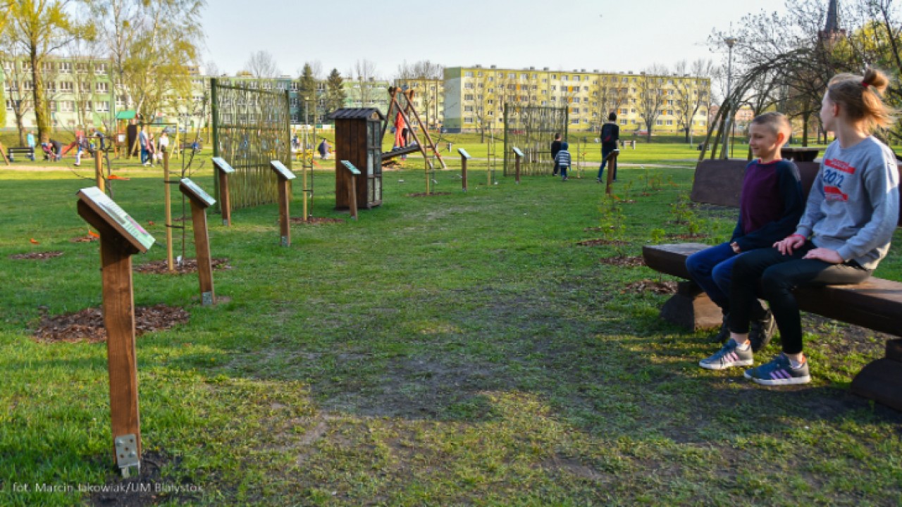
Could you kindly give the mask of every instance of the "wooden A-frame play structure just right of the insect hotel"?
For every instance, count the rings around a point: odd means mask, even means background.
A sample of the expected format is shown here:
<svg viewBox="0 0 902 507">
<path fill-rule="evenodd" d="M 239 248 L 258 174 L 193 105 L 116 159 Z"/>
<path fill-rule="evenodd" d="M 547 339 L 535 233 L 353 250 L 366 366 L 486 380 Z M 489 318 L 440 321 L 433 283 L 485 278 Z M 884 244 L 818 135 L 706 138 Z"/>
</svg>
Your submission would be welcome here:
<svg viewBox="0 0 902 507">
<path fill-rule="evenodd" d="M 415 91 L 412 89 L 405 90 L 398 87 L 389 88 L 391 102 L 389 103 L 389 110 L 385 115 L 385 121 L 382 123 L 382 138 L 385 137 L 385 132 L 389 129 L 389 124 L 394 122 L 393 124 L 396 129 L 396 143 L 390 152 L 382 152 L 382 161 L 387 161 L 394 157 L 400 157 L 401 155 L 407 155 L 413 152 L 421 152 L 423 154 L 423 159 L 426 161 L 426 193 L 429 193 L 430 182 L 435 180 L 435 164 L 433 163 L 433 158 L 430 158 L 427 148 L 432 151 L 432 156 L 438 159 L 438 162 L 442 165 L 442 169 L 447 169 L 447 166 L 442 159 L 441 153 L 439 153 L 436 148 L 436 143 L 432 141 L 432 136 L 429 135 L 429 131 L 426 129 L 423 122 L 420 121 L 417 109 L 413 106 L 414 93 Z M 413 121 L 411 121 L 411 119 Z M 419 127 L 419 131 L 425 137 L 426 143 L 420 141 L 419 136 L 417 135 L 417 129 L 413 128 L 414 126 Z M 413 137 L 413 143 L 410 143 L 407 137 L 401 134 L 401 129 L 406 130 L 407 134 Z M 398 140 L 400 140 L 400 143 L 397 142 Z"/>
</svg>

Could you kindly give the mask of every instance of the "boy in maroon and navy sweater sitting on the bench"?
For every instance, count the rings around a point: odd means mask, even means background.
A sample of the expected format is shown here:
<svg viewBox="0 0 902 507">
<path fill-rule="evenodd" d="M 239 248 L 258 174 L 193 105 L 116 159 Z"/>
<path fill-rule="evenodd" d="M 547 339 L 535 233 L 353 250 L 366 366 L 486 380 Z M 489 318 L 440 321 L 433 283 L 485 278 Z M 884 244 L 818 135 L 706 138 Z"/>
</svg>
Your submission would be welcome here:
<svg viewBox="0 0 902 507">
<path fill-rule="evenodd" d="M 765 113 L 751 120 L 749 146 L 757 159 L 750 161 L 742 180 L 739 219 L 730 241 L 686 259 L 686 270 L 723 312 L 723 325 L 712 343 L 723 344 L 730 337 L 727 316 L 730 313 L 730 287 L 733 263 L 741 255 L 759 248 L 770 248 L 796 230 L 805 209 L 798 168 L 780 157 L 792 127 L 785 115 Z M 758 300 L 751 302 L 751 350 L 767 346 L 774 331 L 774 319 Z M 702 362 L 702 367 L 719 369 L 720 363 Z"/>
</svg>

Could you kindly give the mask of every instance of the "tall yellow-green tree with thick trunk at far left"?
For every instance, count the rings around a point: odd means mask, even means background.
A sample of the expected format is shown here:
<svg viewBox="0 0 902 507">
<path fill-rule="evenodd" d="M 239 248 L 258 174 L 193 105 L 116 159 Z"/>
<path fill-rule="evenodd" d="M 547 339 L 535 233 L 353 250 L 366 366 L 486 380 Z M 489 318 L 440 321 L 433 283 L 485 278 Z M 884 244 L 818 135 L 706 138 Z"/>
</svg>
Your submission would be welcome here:
<svg viewBox="0 0 902 507">
<path fill-rule="evenodd" d="M 25 52 L 31 66 L 32 101 L 41 143 L 51 136 L 51 111 L 44 83 L 45 70 L 52 67 L 48 57 L 78 36 L 93 37 L 93 26 L 79 25 L 71 19 L 70 4 L 70 0 L 20 0 L 7 12 L 12 41 Z"/>
</svg>

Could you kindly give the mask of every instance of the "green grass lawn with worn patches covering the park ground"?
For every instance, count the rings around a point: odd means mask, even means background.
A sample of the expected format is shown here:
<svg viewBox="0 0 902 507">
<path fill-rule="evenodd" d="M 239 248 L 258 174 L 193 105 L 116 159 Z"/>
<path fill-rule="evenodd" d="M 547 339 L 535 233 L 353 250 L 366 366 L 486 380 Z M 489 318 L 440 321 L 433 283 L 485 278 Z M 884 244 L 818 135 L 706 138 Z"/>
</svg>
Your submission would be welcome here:
<svg viewBox="0 0 902 507">
<path fill-rule="evenodd" d="M 707 334 L 632 289 L 667 277 L 601 262 L 686 232 L 671 209 L 695 157 L 624 153 L 621 246 L 577 245 L 612 220 L 594 171 L 488 188 L 478 161 L 469 192 L 440 171 L 450 194 L 427 198 L 409 196 L 421 170 L 386 172 L 384 204 L 356 222 L 318 171 L 314 216 L 347 221 L 293 226 L 290 248 L 274 205 L 229 228 L 211 216 L 226 302 L 201 307 L 196 275 L 134 274 L 137 305 L 190 314 L 137 339 L 137 483 L 112 465 L 106 346 L 32 338 L 43 315 L 101 303 L 97 243 L 69 241 L 87 234 L 75 192 L 92 183 L 0 166 L 0 505 L 899 504 L 902 414 L 848 389 L 886 336 L 805 317 L 814 382 L 762 388 L 700 369 Z M 117 171 L 131 180 L 116 202 L 158 241 L 133 263 L 165 259 L 161 171 Z M 192 179 L 212 190 L 208 161 Z M 706 241 L 732 231 L 735 210 L 694 212 Z M 43 251 L 63 254 L 10 258 Z M 899 252 L 876 275 L 902 281 Z M 122 484 L 139 491 L 97 492 Z"/>
</svg>

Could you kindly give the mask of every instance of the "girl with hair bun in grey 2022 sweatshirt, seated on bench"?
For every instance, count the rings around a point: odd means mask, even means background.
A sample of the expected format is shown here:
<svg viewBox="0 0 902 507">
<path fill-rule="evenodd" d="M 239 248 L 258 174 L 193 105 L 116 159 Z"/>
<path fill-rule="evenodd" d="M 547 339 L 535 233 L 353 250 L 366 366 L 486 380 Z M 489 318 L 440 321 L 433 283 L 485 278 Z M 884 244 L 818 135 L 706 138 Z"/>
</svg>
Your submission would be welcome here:
<svg viewBox="0 0 902 507">
<path fill-rule="evenodd" d="M 802 346 L 802 324 L 792 290 L 799 285 L 859 283 L 870 277 L 889 251 L 899 216 L 898 169 L 893 152 L 870 135 L 893 123 L 883 103 L 888 78 L 868 69 L 864 77 L 834 76 L 821 104 L 824 129 L 836 139 L 824 152 L 796 231 L 741 255 L 733 265 L 730 341 L 703 363 L 747 366 L 750 309 L 759 286 L 774 312 L 783 352 L 746 370 L 764 385 L 811 382 Z"/>
</svg>

